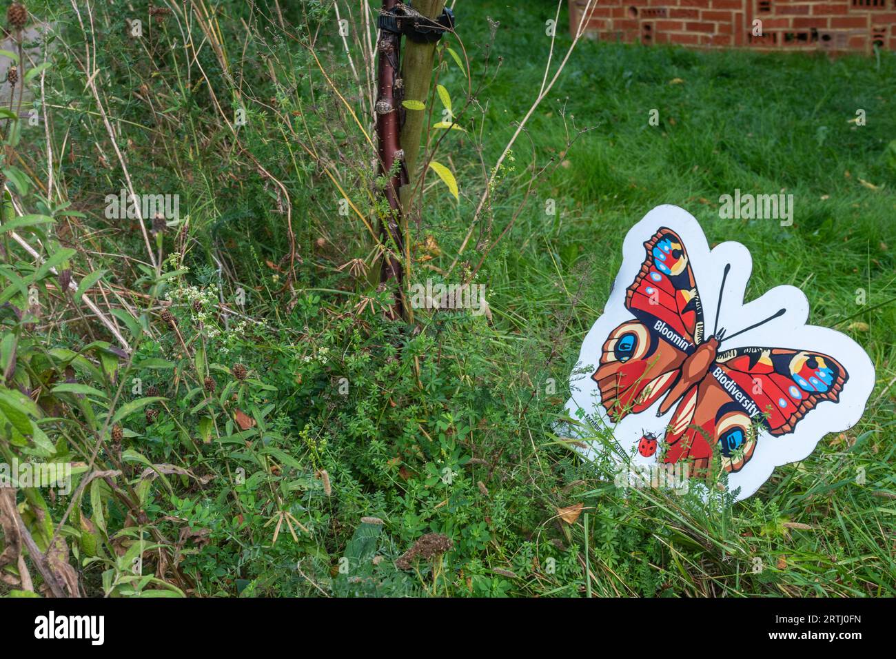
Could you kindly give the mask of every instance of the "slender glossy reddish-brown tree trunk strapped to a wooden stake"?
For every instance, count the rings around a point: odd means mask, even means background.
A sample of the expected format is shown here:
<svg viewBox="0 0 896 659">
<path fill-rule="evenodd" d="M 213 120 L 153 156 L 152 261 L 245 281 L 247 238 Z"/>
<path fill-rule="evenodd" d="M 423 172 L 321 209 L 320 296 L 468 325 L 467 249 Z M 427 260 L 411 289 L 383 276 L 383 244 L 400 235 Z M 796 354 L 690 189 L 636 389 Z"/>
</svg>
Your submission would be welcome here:
<svg viewBox="0 0 896 659">
<path fill-rule="evenodd" d="M 383 0 L 383 16 L 393 13 L 399 0 Z M 394 23 L 392 23 L 394 24 Z M 401 33 L 390 30 L 380 22 L 381 30 L 376 49 L 379 52 L 377 67 L 378 95 L 376 99 L 376 137 L 380 175 L 386 179 L 384 195 L 389 206 L 388 217 L 380 224 L 380 238 L 386 251 L 380 269 L 380 282 L 392 284 L 395 303 L 392 317 L 405 317 L 403 267 L 404 235 L 401 230 L 401 201 L 399 190 L 408 182 L 401 151 Z"/>
</svg>

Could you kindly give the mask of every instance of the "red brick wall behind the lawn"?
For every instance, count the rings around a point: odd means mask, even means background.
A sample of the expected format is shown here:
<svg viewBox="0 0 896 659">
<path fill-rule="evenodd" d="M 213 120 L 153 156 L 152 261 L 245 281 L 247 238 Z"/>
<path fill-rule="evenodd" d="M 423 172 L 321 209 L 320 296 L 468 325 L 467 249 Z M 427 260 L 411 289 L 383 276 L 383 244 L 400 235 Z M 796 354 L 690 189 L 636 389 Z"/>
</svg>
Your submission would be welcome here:
<svg viewBox="0 0 896 659">
<path fill-rule="evenodd" d="M 579 26 L 587 0 L 570 0 Z M 761 21 L 762 36 L 754 35 Z M 896 0 L 599 0 L 586 17 L 595 39 L 760 50 L 896 50 Z"/>
</svg>

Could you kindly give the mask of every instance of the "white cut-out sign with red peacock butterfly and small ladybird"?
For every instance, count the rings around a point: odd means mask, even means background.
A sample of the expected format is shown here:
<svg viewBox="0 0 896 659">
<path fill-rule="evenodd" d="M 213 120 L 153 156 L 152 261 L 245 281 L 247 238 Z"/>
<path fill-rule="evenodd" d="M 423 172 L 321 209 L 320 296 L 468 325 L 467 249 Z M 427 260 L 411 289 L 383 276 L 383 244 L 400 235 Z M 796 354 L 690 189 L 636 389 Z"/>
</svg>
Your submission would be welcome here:
<svg viewBox="0 0 896 659">
<path fill-rule="evenodd" d="M 677 206 L 633 226 L 570 379 L 573 418 L 613 429 L 615 447 L 591 441 L 586 455 L 685 463 L 692 477 L 724 471 L 739 500 L 857 423 L 874 386 L 865 351 L 806 325 L 809 303 L 794 286 L 745 304 L 751 268 L 746 247 L 710 250 Z"/>
</svg>

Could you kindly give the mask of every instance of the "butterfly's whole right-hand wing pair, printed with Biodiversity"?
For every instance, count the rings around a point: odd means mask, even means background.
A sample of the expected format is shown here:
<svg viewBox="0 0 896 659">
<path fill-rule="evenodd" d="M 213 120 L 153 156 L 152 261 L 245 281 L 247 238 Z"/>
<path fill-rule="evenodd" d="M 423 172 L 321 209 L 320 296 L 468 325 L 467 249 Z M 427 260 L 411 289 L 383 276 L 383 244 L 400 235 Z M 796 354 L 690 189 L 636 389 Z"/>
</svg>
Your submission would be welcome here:
<svg viewBox="0 0 896 659">
<path fill-rule="evenodd" d="M 664 461 L 709 464 L 714 448 L 722 467 L 738 472 L 764 430 L 780 436 L 823 401 L 838 402 L 849 374 L 839 361 L 814 351 L 737 348 L 716 358 L 688 392 L 669 423 Z"/>
</svg>

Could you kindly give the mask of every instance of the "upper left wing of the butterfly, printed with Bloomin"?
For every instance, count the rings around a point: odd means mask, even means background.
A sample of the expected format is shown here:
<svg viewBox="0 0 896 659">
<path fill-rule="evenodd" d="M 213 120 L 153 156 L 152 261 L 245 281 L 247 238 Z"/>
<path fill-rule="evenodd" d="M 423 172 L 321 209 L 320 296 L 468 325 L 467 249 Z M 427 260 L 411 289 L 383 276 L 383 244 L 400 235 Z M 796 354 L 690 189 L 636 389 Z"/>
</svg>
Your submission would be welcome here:
<svg viewBox="0 0 896 659">
<path fill-rule="evenodd" d="M 625 291 L 625 308 L 650 327 L 661 321 L 693 351 L 703 341 L 703 306 L 685 243 L 663 227 L 644 248 L 647 258 Z"/>
</svg>

